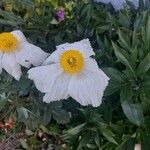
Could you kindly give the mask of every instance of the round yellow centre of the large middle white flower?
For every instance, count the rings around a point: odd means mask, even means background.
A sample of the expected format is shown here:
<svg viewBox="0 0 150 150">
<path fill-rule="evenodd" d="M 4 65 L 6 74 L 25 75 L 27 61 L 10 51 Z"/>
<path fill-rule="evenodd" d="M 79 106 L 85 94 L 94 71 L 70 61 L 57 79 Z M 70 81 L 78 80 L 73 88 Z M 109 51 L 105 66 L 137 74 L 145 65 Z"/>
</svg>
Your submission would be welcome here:
<svg viewBox="0 0 150 150">
<path fill-rule="evenodd" d="M 60 57 L 60 66 L 66 73 L 79 73 L 84 67 L 84 59 L 78 50 L 67 50 Z"/>
</svg>

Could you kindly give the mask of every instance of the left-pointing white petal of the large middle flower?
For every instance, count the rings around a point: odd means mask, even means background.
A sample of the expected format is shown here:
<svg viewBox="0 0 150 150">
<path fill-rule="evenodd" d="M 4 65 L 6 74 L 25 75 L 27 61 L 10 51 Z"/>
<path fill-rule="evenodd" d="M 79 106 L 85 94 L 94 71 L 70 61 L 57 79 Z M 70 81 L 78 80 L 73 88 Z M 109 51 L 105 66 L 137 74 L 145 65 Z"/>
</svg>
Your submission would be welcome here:
<svg viewBox="0 0 150 150">
<path fill-rule="evenodd" d="M 62 72 L 58 64 L 39 66 L 28 71 L 28 78 L 34 81 L 39 91 L 49 93 L 56 78 L 61 75 Z"/>
</svg>

